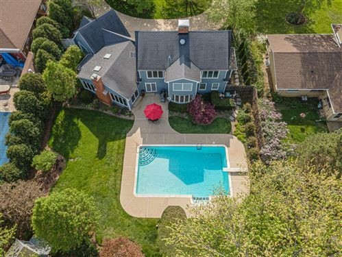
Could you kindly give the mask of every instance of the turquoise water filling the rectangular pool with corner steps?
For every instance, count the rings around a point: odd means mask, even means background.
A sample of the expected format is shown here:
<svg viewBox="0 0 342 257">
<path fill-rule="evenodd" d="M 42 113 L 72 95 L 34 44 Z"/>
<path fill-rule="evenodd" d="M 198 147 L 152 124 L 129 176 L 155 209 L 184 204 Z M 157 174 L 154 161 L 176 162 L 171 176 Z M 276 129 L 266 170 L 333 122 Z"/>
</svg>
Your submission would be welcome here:
<svg viewBox="0 0 342 257">
<path fill-rule="evenodd" d="M 136 178 L 138 195 L 208 197 L 228 193 L 225 147 L 141 147 Z"/>
</svg>

